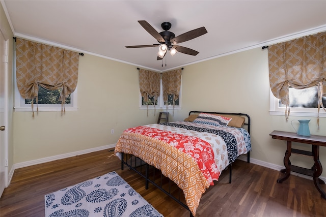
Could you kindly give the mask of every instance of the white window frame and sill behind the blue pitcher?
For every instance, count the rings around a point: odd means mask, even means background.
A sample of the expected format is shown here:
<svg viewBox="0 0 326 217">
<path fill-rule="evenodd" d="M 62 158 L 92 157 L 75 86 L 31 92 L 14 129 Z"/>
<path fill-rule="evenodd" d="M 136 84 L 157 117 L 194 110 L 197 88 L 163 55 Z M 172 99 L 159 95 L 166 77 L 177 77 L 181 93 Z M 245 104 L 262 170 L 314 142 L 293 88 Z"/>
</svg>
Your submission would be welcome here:
<svg viewBox="0 0 326 217">
<path fill-rule="evenodd" d="M 285 108 L 279 107 L 279 99 L 277 99 L 273 92 L 269 89 L 269 114 L 270 115 L 285 115 Z M 318 108 L 290 108 L 289 116 L 302 117 L 317 117 Z M 319 117 L 326 117 L 326 112 L 320 108 Z"/>
</svg>

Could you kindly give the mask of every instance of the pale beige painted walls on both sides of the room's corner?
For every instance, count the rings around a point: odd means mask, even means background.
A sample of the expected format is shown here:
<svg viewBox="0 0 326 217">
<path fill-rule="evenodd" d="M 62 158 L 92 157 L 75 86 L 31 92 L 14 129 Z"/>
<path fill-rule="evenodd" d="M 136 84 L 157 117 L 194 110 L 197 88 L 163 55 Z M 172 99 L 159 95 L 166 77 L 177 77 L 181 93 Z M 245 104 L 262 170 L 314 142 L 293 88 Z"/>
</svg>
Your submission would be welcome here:
<svg viewBox="0 0 326 217">
<path fill-rule="evenodd" d="M 79 64 L 77 112 L 64 116 L 60 112 L 40 112 L 34 119 L 31 112 L 14 113 L 15 163 L 114 144 L 124 129 L 156 121 L 153 111 L 147 117 L 146 110 L 138 108 L 135 66 L 87 54 L 80 57 Z M 283 165 L 286 142 L 271 139 L 269 133 L 293 129 L 284 116 L 269 115 L 266 50 L 255 48 L 184 67 L 181 97 L 182 110 L 175 110 L 171 120 L 184 119 L 190 110 L 248 113 L 252 120 L 251 158 Z M 311 134 L 326 135 L 325 122 L 325 118 L 320 119 L 318 132 L 312 119 Z M 115 134 L 110 133 L 111 129 Z M 321 147 L 323 165 L 325 157 L 325 148 Z M 311 159 L 292 159 L 299 166 L 312 166 Z M 322 176 L 326 176 L 325 171 Z"/>
</svg>

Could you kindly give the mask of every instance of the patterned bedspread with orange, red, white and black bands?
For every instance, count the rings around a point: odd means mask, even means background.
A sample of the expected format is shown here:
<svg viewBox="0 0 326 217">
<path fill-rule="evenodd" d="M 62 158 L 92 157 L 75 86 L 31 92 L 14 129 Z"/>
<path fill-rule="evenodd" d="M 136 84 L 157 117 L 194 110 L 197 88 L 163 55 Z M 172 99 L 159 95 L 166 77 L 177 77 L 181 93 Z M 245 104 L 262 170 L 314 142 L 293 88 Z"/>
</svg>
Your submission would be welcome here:
<svg viewBox="0 0 326 217">
<path fill-rule="evenodd" d="M 176 121 L 127 129 L 115 152 L 131 153 L 160 169 L 182 189 L 196 215 L 202 194 L 230 163 L 251 149 L 244 129 Z"/>
</svg>

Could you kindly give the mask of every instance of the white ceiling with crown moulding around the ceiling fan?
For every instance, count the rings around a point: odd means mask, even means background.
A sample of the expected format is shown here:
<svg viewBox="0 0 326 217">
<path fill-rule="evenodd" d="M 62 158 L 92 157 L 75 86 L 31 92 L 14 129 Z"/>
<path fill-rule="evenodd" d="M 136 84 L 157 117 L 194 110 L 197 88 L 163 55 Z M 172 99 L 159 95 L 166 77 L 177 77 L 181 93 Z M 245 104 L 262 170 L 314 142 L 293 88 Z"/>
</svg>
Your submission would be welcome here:
<svg viewBox="0 0 326 217">
<path fill-rule="evenodd" d="M 160 72 L 326 30 L 326 1 L 1 2 L 16 37 Z M 168 53 L 162 67 L 158 47 L 125 48 L 157 43 L 138 20 L 157 32 L 169 21 L 176 36 L 202 26 L 208 33 L 179 44 L 198 55 Z"/>
</svg>

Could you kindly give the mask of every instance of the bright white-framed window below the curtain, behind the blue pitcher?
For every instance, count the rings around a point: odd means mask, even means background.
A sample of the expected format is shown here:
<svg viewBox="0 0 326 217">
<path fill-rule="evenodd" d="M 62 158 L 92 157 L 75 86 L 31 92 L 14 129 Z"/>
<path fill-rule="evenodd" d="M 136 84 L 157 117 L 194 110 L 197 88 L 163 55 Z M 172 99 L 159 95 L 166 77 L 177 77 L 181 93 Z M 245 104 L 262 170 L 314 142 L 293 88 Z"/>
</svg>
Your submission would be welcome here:
<svg viewBox="0 0 326 217">
<path fill-rule="evenodd" d="M 290 116 L 312 116 L 316 117 L 318 112 L 317 86 L 305 89 L 289 88 Z M 326 108 L 326 97 L 322 97 L 323 106 Z M 274 97 L 270 91 L 270 111 L 272 115 L 284 115 L 286 106 L 281 100 Z M 320 108 L 320 117 L 326 117 L 326 112 Z"/>
</svg>

